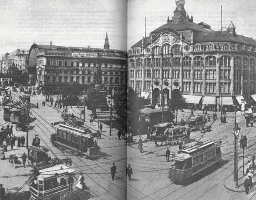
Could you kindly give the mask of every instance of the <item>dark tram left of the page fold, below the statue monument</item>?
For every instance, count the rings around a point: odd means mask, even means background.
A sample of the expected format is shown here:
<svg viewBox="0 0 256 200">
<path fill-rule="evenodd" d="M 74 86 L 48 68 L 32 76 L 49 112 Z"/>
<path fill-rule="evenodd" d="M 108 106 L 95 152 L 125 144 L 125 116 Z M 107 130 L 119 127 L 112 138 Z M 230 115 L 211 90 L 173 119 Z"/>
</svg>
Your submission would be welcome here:
<svg viewBox="0 0 256 200">
<path fill-rule="evenodd" d="M 93 142 L 96 135 L 90 129 L 60 123 L 55 130 L 56 133 L 51 134 L 54 146 L 76 156 L 99 157 L 100 147 Z"/>
</svg>

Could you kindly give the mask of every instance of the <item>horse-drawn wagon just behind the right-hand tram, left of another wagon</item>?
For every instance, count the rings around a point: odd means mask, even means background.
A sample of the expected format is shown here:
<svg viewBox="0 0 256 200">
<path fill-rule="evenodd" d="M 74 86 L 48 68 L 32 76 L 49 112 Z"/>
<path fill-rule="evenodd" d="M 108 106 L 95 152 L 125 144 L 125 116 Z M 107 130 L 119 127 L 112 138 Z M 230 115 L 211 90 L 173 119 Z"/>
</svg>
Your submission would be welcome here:
<svg viewBox="0 0 256 200">
<path fill-rule="evenodd" d="M 151 140 L 154 140 L 156 145 L 157 142 L 161 142 L 161 145 L 165 142 L 173 146 L 177 145 L 179 141 L 186 144 L 189 140 L 187 133 L 190 127 L 188 126 L 173 126 L 170 123 L 160 123 L 154 125 L 154 127 L 156 130 L 152 134 Z"/>
</svg>

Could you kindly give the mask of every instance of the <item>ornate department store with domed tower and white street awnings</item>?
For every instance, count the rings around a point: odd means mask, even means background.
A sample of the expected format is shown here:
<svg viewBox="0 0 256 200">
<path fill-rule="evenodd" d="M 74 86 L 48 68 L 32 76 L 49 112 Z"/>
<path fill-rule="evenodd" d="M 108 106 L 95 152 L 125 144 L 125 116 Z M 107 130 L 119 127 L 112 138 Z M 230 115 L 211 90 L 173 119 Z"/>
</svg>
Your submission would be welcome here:
<svg viewBox="0 0 256 200">
<path fill-rule="evenodd" d="M 129 50 L 129 86 L 152 104 L 167 104 L 178 90 L 206 109 L 256 100 L 256 41 L 238 35 L 233 22 L 220 31 L 195 23 L 185 0 L 175 2 L 172 19 Z"/>
</svg>

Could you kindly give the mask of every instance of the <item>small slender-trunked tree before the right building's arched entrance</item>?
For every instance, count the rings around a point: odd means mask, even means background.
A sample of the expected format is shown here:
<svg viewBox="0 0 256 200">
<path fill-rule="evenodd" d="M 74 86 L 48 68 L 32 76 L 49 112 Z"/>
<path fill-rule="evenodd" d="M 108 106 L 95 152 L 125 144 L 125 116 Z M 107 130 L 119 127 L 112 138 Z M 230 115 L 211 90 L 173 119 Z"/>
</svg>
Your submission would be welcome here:
<svg viewBox="0 0 256 200">
<path fill-rule="evenodd" d="M 181 110 L 186 105 L 186 99 L 181 95 L 180 90 L 174 90 L 172 92 L 172 98 L 168 102 L 169 108 L 176 111 L 176 123 L 178 110 Z"/>
</svg>

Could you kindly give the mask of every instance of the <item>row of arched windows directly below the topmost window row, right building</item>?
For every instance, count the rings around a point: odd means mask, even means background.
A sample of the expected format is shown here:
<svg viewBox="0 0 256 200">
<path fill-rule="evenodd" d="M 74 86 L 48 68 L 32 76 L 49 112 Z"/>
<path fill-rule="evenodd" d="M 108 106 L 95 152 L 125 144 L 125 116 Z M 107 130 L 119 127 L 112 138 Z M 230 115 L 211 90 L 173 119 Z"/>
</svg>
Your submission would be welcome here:
<svg viewBox="0 0 256 200">
<path fill-rule="evenodd" d="M 241 66 L 239 65 L 239 59 L 241 58 L 236 57 L 235 58 L 235 66 Z M 192 65 L 192 59 L 189 56 L 185 56 L 182 59 L 183 67 L 191 67 Z M 228 67 L 230 66 L 231 58 L 229 56 L 221 56 L 220 58 L 220 66 L 221 67 Z M 170 58 L 163 58 L 163 66 L 164 67 L 170 67 Z M 241 62 L 240 62 L 241 63 Z M 248 66 L 248 59 L 243 58 L 244 67 Z M 143 67 L 143 59 L 137 58 L 135 61 L 136 67 Z M 217 65 L 217 59 L 215 56 L 207 56 L 205 58 L 205 67 L 216 67 Z M 134 59 L 130 59 L 129 61 L 130 68 L 134 68 Z M 154 58 L 154 67 L 160 67 L 161 66 L 161 58 Z M 172 58 L 172 66 L 173 67 L 180 67 L 180 57 L 173 57 Z M 195 56 L 194 58 L 194 66 L 195 67 L 203 67 L 203 57 L 201 56 Z M 250 59 L 250 66 L 254 67 L 254 60 Z M 145 58 L 144 59 L 144 67 L 151 67 L 151 58 Z"/>
</svg>

